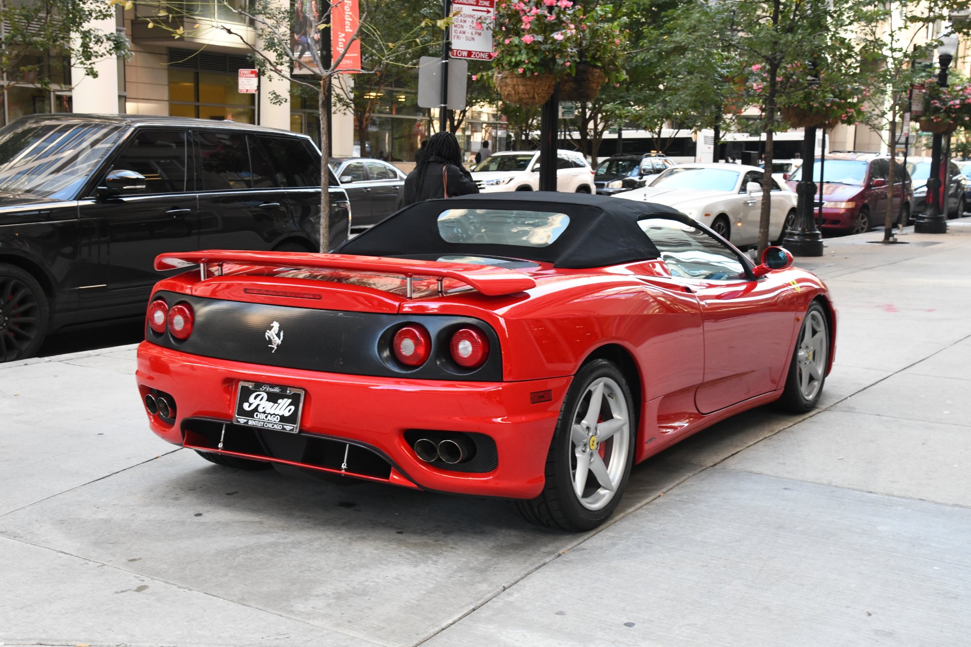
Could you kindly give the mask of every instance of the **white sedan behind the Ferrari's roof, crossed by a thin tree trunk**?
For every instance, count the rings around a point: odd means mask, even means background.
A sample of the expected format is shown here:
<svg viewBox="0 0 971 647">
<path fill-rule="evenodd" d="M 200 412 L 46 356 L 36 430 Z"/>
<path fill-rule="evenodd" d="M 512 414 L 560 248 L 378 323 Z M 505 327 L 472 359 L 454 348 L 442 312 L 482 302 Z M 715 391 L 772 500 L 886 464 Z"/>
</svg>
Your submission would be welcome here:
<svg viewBox="0 0 971 647">
<path fill-rule="evenodd" d="M 666 204 L 714 229 L 738 246 L 758 243 L 762 169 L 743 164 L 698 163 L 670 168 L 644 188 L 618 197 Z M 795 193 L 775 185 L 769 233 L 782 240 L 795 218 Z"/>
</svg>

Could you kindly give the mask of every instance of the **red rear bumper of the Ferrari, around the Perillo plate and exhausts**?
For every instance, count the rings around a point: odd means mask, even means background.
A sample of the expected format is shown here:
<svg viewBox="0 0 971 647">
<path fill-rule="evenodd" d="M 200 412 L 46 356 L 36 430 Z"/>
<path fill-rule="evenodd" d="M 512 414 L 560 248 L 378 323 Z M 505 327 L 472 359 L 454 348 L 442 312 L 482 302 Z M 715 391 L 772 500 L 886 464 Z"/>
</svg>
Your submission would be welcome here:
<svg viewBox="0 0 971 647">
<path fill-rule="evenodd" d="M 220 453 L 215 444 L 200 445 L 191 429 L 225 422 L 231 433 L 240 381 L 296 387 L 306 391 L 301 435 L 338 441 L 339 445 L 327 445 L 330 449 L 326 451 L 343 452 L 345 443 L 340 441 L 346 440 L 373 451 L 390 464 L 388 475 L 380 478 L 356 474 L 352 468 L 345 474 L 406 487 L 513 498 L 531 498 L 543 489 L 553 428 L 571 381 L 560 377 L 525 382 L 451 382 L 323 373 L 204 358 L 151 342 L 139 346 L 136 375 L 143 398 L 150 390 L 156 390 L 175 400 L 174 424 L 147 415 L 151 430 L 176 445 Z M 538 392 L 550 393 L 535 397 Z M 532 403 L 533 399 L 546 401 Z M 419 460 L 405 439 L 409 429 L 486 434 L 495 441 L 497 465 L 485 473 L 468 473 Z M 261 433 L 293 438 L 282 431 Z M 320 460 L 285 459 L 269 451 L 221 453 L 321 471 L 342 471 L 321 466 Z"/>
</svg>

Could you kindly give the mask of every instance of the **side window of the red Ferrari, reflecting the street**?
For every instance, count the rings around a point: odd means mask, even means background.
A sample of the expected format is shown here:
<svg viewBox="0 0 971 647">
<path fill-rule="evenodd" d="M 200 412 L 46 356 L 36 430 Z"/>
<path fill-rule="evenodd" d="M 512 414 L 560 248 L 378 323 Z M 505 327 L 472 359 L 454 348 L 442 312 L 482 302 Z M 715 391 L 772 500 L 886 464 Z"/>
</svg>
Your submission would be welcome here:
<svg viewBox="0 0 971 647">
<path fill-rule="evenodd" d="M 738 255 L 703 229 L 663 218 L 638 224 L 661 253 L 671 276 L 713 281 L 747 278 Z"/>
</svg>

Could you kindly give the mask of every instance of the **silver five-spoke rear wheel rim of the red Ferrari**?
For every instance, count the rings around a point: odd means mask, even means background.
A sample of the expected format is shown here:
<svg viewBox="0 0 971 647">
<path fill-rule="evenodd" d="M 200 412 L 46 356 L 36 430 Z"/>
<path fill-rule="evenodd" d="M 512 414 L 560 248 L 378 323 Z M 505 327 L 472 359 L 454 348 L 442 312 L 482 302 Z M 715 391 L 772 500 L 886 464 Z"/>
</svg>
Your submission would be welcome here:
<svg viewBox="0 0 971 647">
<path fill-rule="evenodd" d="M 587 510 L 607 505 L 624 475 L 630 451 L 630 418 L 619 385 L 593 381 L 573 416 L 573 491 Z"/>
</svg>

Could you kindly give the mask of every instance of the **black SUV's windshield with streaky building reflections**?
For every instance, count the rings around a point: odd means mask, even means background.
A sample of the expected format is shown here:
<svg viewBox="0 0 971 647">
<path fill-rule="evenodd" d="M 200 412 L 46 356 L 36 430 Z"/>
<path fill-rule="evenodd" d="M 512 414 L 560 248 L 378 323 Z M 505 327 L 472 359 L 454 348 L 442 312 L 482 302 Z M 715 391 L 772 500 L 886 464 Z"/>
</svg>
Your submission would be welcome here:
<svg viewBox="0 0 971 647">
<path fill-rule="evenodd" d="M 0 190 L 70 200 L 120 136 L 113 125 L 11 123 L 0 128 Z"/>
</svg>

